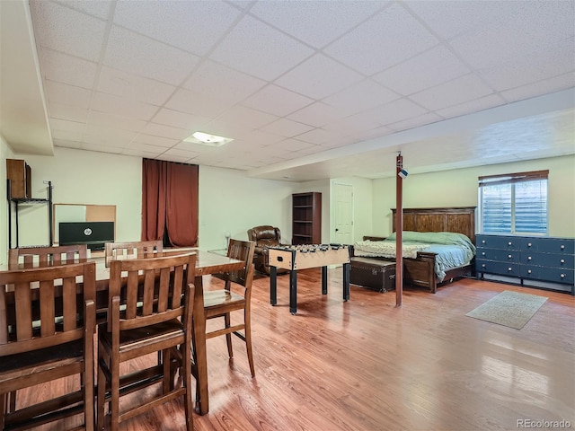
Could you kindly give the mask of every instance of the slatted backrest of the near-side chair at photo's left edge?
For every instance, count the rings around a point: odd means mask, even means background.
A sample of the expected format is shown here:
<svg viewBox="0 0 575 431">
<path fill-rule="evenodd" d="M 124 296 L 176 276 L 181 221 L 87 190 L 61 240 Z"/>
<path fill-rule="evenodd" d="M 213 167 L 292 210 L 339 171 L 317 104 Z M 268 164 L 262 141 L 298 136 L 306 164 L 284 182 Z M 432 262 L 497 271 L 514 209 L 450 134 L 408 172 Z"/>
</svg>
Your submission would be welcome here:
<svg viewBox="0 0 575 431">
<path fill-rule="evenodd" d="M 84 337 L 77 277 L 82 277 L 80 296 L 94 301 L 94 262 L 0 272 L 0 356 Z"/>
</svg>

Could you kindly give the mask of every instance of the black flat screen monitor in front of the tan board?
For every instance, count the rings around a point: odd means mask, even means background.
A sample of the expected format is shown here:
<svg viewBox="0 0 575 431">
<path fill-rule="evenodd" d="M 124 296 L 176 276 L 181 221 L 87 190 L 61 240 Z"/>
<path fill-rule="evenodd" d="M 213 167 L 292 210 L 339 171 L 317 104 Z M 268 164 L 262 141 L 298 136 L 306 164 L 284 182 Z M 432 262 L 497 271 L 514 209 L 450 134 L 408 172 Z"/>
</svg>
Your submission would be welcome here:
<svg viewBox="0 0 575 431">
<path fill-rule="evenodd" d="M 59 244 L 86 244 L 91 251 L 104 250 L 105 242 L 114 241 L 114 222 L 62 222 Z"/>
</svg>

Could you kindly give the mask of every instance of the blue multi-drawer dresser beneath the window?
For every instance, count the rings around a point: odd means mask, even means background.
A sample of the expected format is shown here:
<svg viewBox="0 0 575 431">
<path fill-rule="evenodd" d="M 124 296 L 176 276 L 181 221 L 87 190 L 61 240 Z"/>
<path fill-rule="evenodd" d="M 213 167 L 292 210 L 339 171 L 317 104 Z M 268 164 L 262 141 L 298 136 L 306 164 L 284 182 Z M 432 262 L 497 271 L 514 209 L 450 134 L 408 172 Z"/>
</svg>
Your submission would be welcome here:
<svg viewBox="0 0 575 431">
<path fill-rule="evenodd" d="M 477 277 L 492 274 L 556 284 L 575 295 L 575 239 L 476 235 Z M 555 288 L 555 287 L 553 287 Z"/>
</svg>

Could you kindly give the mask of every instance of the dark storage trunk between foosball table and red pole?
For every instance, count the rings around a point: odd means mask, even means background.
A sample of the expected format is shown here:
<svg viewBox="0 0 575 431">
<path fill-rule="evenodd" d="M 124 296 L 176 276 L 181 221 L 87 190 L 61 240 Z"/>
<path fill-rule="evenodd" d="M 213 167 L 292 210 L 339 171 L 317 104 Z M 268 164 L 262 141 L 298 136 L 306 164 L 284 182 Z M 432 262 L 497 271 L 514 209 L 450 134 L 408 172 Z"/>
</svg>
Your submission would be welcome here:
<svg viewBox="0 0 575 431">
<path fill-rule="evenodd" d="M 395 289 L 395 262 L 370 258 L 351 258 L 349 283 L 377 292 Z"/>
</svg>

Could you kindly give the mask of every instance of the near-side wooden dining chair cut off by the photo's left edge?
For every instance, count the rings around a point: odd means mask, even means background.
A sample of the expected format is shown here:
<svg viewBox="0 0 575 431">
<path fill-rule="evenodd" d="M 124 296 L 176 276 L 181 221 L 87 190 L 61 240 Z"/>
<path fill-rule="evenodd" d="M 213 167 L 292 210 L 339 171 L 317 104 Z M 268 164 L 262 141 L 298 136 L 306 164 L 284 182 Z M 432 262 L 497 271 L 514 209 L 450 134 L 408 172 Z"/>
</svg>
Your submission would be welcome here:
<svg viewBox="0 0 575 431">
<path fill-rule="evenodd" d="M 0 428 L 35 427 L 84 413 L 82 428 L 93 430 L 95 282 L 93 262 L 0 272 Z M 79 389 L 10 407 L 10 394 L 75 374 Z"/>
</svg>

